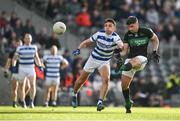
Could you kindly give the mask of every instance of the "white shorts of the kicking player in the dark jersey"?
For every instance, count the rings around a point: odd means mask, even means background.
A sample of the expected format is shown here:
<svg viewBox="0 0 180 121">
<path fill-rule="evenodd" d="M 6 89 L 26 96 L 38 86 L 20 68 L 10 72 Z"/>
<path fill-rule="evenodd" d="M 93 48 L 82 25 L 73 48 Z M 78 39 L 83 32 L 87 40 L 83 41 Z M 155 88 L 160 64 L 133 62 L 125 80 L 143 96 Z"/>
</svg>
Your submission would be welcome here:
<svg viewBox="0 0 180 121">
<path fill-rule="evenodd" d="M 144 67 L 147 64 L 147 58 L 145 56 L 136 56 L 136 57 L 139 58 L 139 60 L 141 61 L 141 66 L 138 69 L 131 69 L 130 71 L 123 71 L 122 75 L 133 77 L 137 71 L 141 71 L 144 69 Z M 130 60 L 131 59 L 126 59 L 124 64 L 128 63 Z"/>
</svg>

